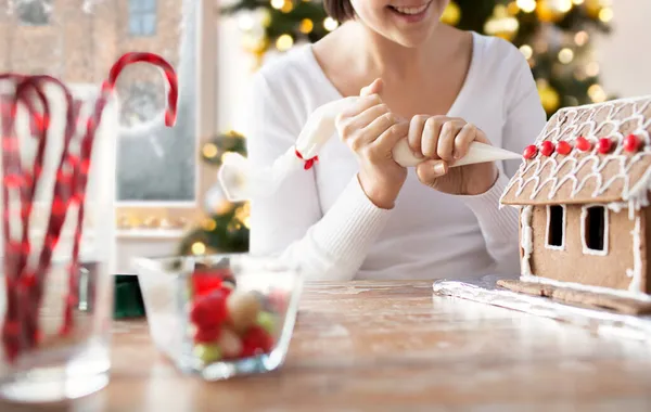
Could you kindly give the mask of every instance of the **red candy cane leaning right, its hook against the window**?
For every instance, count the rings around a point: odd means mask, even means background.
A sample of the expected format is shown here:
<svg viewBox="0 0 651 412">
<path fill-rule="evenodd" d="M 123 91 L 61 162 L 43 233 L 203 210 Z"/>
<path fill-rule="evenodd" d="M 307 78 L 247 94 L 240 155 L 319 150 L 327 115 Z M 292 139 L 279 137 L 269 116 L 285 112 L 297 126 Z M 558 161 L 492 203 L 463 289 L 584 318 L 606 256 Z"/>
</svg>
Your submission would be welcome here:
<svg viewBox="0 0 651 412">
<path fill-rule="evenodd" d="M 115 90 L 117 78 L 126 66 L 133 63 L 150 63 L 154 66 L 159 67 L 169 86 L 167 93 L 167 110 L 165 111 L 165 126 L 173 127 L 177 118 L 177 100 L 178 100 L 178 80 L 177 75 L 169 63 L 163 57 L 153 53 L 127 53 L 123 55 L 111 68 L 108 79 L 102 86 L 100 98 L 95 102 L 95 107 L 88 119 L 86 126 L 86 134 L 81 140 L 81 153 L 79 167 L 76 168 L 74 177 L 74 188 L 76 189 L 75 202 L 79 206 L 79 214 L 77 216 L 77 228 L 75 231 L 75 239 L 73 244 L 73 259 L 69 267 L 68 274 L 68 296 L 66 298 L 64 309 L 64 323 L 61 327 L 61 334 L 65 335 L 69 333 L 74 326 L 73 308 L 77 305 L 78 291 L 76 287 L 77 275 L 79 273 L 79 248 L 81 244 L 81 228 L 84 222 L 84 204 L 86 198 L 86 185 L 88 183 L 88 170 L 90 169 L 90 160 L 92 154 L 92 145 L 94 142 L 94 134 L 101 121 L 104 107 L 112 98 L 112 93 Z"/>
</svg>

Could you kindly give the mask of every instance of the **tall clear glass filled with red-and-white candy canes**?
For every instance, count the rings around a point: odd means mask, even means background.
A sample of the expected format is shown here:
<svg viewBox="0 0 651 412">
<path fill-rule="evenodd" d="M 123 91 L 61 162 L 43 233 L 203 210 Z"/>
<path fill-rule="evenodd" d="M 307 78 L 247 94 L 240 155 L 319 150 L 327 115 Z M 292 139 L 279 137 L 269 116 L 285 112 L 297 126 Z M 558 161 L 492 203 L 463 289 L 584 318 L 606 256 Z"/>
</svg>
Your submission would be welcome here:
<svg viewBox="0 0 651 412">
<path fill-rule="evenodd" d="M 0 79 L 0 397 L 9 401 L 65 401 L 108 383 L 118 112 L 110 100 L 100 121 L 100 93 Z M 87 133 L 91 121 L 99 126 Z"/>
</svg>

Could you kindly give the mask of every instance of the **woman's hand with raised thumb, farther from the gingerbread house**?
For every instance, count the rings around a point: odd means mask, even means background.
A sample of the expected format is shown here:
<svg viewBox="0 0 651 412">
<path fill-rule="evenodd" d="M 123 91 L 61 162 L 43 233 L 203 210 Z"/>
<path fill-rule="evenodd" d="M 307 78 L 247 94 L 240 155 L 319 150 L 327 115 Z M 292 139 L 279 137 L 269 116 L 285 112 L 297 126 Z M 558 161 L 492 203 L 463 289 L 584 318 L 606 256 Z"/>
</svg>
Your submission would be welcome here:
<svg viewBox="0 0 651 412">
<path fill-rule="evenodd" d="M 342 140 L 359 160 L 359 183 L 378 207 L 394 207 L 407 179 L 407 169 L 393 159 L 396 143 L 408 136 L 409 121 L 398 118 L 382 102 L 382 81 L 363 88 L 358 101 L 335 119 Z"/>
</svg>

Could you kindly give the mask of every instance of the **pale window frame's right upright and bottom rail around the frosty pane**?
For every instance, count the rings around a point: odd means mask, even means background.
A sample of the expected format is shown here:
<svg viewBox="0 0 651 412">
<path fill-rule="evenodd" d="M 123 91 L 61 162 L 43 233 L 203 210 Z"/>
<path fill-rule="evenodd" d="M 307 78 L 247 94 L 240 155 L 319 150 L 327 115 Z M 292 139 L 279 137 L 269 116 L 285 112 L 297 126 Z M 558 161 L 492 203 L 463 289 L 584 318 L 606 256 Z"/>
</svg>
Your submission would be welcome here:
<svg viewBox="0 0 651 412">
<path fill-rule="evenodd" d="M 197 73 L 201 87 L 199 99 L 194 154 L 194 201 L 188 202 L 123 202 L 116 201 L 116 234 L 119 239 L 180 239 L 188 227 L 195 226 L 204 216 L 205 193 L 215 184 L 210 179 L 216 171 L 202 162 L 200 147 L 217 132 L 217 29 L 216 0 L 197 0 Z"/>
</svg>

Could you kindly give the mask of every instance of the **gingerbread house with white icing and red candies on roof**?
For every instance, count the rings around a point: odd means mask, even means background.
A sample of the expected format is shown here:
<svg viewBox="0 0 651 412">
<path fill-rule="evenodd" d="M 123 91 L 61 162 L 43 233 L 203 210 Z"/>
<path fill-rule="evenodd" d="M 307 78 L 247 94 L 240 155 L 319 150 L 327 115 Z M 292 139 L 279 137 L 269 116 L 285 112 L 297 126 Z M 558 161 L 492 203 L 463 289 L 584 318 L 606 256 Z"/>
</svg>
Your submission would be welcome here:
<svg viewBox="0 0 651 412">
<path fill-rule="evenodd" d="M 502 285 L 651 300 L 650 133 L 651 96 L 567 107 L 548 121 L 500 201 L 520 209 L 522 271 Z"/>
</svg>

